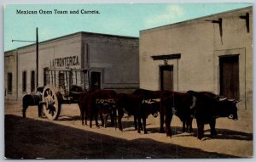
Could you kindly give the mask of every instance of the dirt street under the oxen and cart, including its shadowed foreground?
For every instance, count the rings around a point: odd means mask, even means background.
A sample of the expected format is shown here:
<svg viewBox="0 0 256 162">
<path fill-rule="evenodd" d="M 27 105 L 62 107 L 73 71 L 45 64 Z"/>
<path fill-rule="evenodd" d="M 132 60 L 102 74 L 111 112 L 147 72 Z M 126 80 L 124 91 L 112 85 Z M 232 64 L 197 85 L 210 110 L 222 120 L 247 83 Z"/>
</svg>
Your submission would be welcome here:
<svg viewBox="0 0 256 162">
<path fill-rule="evenodd" d="M 218 137 L 204 140 L 182 132 L 182 122 L 173 117 L 172 137 L 159 133 L 160 118 L 148 117 L 148 134 L 138 134 L 133 117 L 123 118 L 124 131 L 114 127 L 82 126 L 77 104 L 62 105 L 59 120 L 38 118 L 37 107 L 21 118 L 21 103 L 5 103 L 5 157 L 8 159 L 181 159 L 239 158 L 253 156 L 253 117 L 239 110 L 239 120 L 218 119 Z M 95 124 L 95 122 L 93 122 Z"/>
</svg>

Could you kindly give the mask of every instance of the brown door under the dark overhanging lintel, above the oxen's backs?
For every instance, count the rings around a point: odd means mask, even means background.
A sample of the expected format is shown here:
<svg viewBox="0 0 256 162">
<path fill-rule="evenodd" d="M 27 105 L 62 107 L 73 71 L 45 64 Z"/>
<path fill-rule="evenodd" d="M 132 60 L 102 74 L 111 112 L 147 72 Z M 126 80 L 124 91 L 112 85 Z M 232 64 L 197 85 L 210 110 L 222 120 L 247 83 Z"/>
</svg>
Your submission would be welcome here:
<svg viewBox="0 0 256 162">
<path fill-rule="evenodd" d="M 173 91 L 173 66 L 160 66 L 160 90 Z"/>
</svg>

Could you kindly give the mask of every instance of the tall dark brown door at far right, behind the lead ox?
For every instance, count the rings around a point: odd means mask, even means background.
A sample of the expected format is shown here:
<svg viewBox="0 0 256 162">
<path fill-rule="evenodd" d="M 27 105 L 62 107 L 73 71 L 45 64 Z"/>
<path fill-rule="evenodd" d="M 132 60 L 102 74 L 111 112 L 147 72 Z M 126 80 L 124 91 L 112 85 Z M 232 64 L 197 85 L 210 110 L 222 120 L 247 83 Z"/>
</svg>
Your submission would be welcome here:
<svg viewBox="0 0 256 162">
<path fill-rule="evenodd" d="M 239 98 L 239 55 L 219 58 L 220 95 Z"/>
</svg>

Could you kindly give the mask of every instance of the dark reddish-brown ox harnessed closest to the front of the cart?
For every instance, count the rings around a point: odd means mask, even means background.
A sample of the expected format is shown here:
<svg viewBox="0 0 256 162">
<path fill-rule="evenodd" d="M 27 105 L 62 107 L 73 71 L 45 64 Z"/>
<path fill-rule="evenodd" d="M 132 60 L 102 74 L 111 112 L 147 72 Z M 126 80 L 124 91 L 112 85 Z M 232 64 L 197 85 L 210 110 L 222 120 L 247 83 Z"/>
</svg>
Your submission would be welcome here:
<svg viewBox="0 0 256 162">
<path fill-rule="evenodd" d="M 79 109 L 81 112 L 82 125 L 87 125 L 87 119 L 90 118 L 90 127 L 92 126 L 93 118 L 96 120 L 96 126 L 98 125 L 98 115 L 101 116 L 102 125 L 106 126 L 106 120 L 103 120 L 102 115 L 111 116 L 111 124 L 114 123 L 115 117 L 115 96 L 116 92 L 113 90 L 96 90 L 84 92 L 79 98 Z"/>
</svg>

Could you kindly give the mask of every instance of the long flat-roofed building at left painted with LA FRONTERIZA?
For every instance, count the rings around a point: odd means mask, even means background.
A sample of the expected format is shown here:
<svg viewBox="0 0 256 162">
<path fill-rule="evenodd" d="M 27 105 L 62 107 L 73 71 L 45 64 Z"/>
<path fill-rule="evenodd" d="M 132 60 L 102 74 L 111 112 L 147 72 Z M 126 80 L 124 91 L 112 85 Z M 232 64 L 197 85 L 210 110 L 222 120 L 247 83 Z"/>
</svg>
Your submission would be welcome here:
<svg viewBox="0 0 256 162">
<path fill-rule="evenodd" d="M 137 37 L 77 32 L 39 42 L 38 47 L 39 87 L 52 68 L 90 69 L 91 85 L 102 89 L 131 92 L 139 86 Z M 4 53 L 6 99 L 36 91 L 36 67 L 35 44 Z"/>
</svg>

